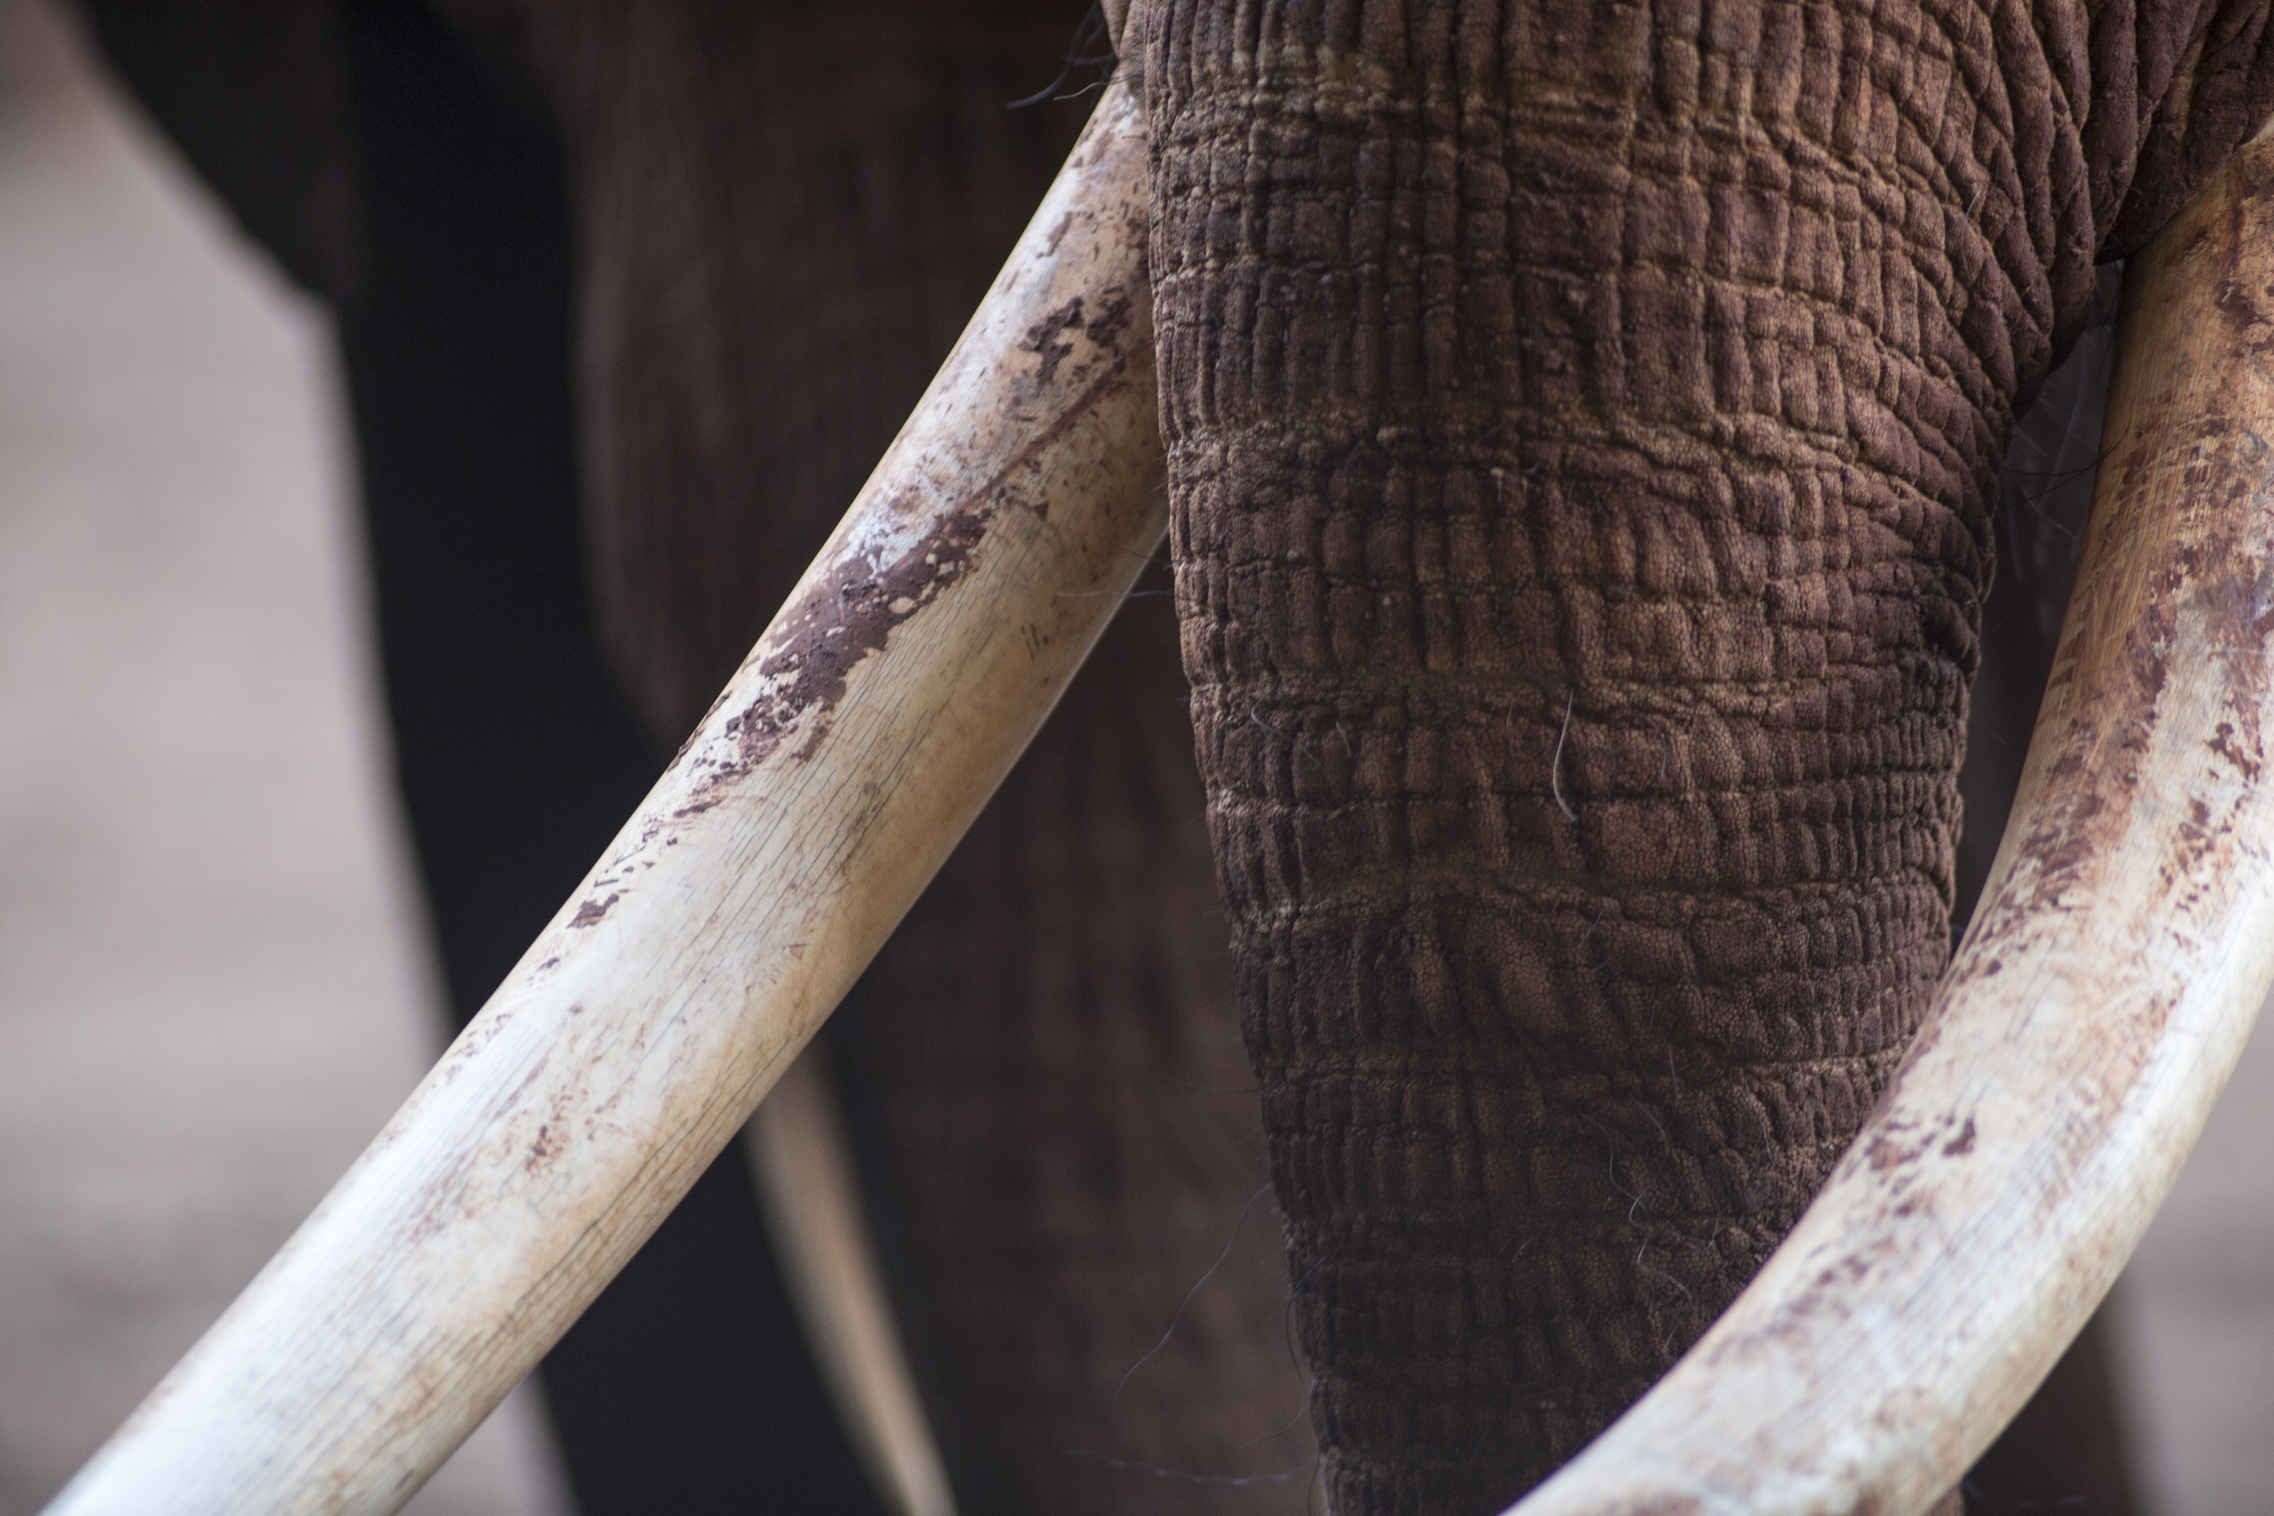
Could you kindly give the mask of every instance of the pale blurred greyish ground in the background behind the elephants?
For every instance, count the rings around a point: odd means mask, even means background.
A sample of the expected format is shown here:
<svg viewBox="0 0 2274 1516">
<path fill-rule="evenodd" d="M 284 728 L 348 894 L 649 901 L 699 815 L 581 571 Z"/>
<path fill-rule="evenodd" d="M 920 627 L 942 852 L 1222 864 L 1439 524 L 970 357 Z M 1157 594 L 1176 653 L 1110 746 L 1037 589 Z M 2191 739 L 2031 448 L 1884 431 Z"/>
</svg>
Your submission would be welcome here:
<svg viewBox="0 0 2274 1516">
<path fill-rule="evenodd" d="M 0 0 L 0 1516 L 437 1050 L 321 314 Z M 2153 1509 L 2274 1511 L 2274 1039 L 2124 1284 Z M 416 1511 L 566 1511 L 532 1407 Z"/>
</svg>

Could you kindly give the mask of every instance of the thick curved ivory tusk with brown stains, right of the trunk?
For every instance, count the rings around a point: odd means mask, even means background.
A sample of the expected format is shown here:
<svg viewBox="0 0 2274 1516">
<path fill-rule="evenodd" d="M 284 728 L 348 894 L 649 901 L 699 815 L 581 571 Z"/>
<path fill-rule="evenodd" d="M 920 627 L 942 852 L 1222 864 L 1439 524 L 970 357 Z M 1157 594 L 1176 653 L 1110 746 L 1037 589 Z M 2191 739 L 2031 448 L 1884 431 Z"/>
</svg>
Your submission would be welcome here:
<svg viewBox="0 0 2274 1516">
<path fill-rule="evenodd" d="M 2274 139 L 2133 261 L 1985 902 L 1815 1207 L 1517 1511 L 1912 1514 L 2115 1282 L 2274 980 Z"/>
</svg>

